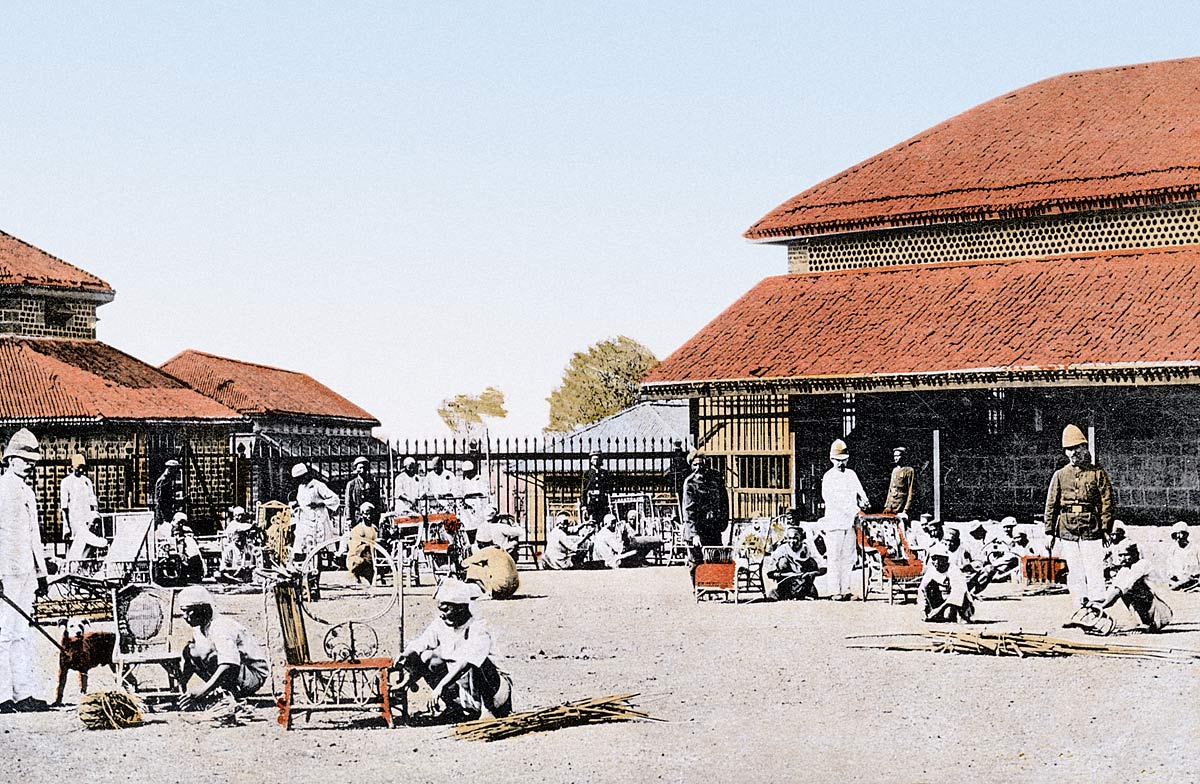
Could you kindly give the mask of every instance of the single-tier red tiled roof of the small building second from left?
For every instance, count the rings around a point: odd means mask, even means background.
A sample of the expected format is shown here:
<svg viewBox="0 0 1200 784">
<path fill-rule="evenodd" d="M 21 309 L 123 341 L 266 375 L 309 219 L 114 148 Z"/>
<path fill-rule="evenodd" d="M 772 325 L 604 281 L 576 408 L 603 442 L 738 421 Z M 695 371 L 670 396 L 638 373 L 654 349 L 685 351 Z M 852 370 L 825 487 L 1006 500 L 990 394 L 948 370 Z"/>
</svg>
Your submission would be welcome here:
<svg viewBox="0 0 1200 784">
<path fill-rule="evenodd" d="M 244 414 L 340 417 L 379 424 L 329 387 L 295 371 L 192 349 L 172 357 L 161 367 Z"/>
</svg>

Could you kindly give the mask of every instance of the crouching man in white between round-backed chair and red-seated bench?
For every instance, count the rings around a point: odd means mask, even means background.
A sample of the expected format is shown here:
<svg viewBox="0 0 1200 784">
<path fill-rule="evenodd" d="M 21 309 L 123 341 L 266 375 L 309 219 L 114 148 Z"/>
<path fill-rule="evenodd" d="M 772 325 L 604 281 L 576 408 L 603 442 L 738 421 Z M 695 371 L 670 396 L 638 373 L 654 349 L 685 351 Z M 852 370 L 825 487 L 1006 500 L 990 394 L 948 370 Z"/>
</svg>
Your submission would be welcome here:
<svg viewBox="0 0 1200 784">
<path fill-rule="evenodd" d="M 179 707 L 196 711 L 217 702 L 228 708 L 232 723 L 246 718 L 241 701 L 257 692 L 270 674 L 266 653 L 244 626 L 217 612 L 212 596 L 200 586 L 179 592 L 180 612 L 192 627 L 192 641 L 184 647 L 182 677 L 185 692 Z M 200 683 L 188 688 L 192 676 Z"/>
</svg>

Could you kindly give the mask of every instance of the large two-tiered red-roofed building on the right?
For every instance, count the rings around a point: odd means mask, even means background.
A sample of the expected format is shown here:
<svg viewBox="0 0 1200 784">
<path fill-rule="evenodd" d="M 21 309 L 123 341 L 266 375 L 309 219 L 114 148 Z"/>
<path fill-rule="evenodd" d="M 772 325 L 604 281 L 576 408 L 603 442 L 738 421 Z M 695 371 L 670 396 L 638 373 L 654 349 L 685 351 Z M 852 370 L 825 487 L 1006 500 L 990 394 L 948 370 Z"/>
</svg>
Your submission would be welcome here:
<svg viewBox="0 0 1200 784">
<path fill-rule="evenodd" d="M 1200 59 L 1069 73 L 950 118 L 770 210 L 769 277 L 656 366 L 736 514 L 821 514 L 833 438 L 882 501 L 1030 519 L 1073 423 L 1118 514 L 1200 509 Z M 743 475 L 788 477 L 784 487 Z"/>
</svg>

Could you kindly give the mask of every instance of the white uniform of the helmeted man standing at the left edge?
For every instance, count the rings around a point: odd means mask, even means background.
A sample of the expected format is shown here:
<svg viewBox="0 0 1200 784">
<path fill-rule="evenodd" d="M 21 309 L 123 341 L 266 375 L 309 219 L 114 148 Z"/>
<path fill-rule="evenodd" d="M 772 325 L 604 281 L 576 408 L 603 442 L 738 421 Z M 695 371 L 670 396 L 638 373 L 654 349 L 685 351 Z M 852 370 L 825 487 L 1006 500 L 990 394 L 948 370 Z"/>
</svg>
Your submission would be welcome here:
<svg viewBox="0 0 1200 784">
<path fill-rule="evenodd" d="M 37 577 L 46 575 L 46 555 L 37 527 L 37 498 L 11 471 L 0 475 L 0 581 L 5 596 L 32 614 Z M 34 630 L 0 602 L 0 702 L 35 696 Z"/>
</svg>

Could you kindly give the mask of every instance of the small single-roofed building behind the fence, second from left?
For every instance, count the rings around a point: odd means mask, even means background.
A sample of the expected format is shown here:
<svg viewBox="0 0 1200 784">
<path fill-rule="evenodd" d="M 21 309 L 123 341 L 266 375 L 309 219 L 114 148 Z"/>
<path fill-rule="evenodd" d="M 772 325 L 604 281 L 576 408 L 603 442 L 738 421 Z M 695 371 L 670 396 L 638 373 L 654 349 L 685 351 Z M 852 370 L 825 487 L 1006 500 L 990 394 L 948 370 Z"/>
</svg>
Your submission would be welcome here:
<svg viewBox="0 0 1200 784">
<path fill-rule="evenodd" d="M 388 444 L 371 435 L 379 420 L 311 376 L 187 349 L 161 370 L 244 419 L 235 450 L 250 460 L 244 503 L 286 499 L 290 468 L 304 461 L 337 490 L 359 455 L 390 486 Z"/>
</svg>

